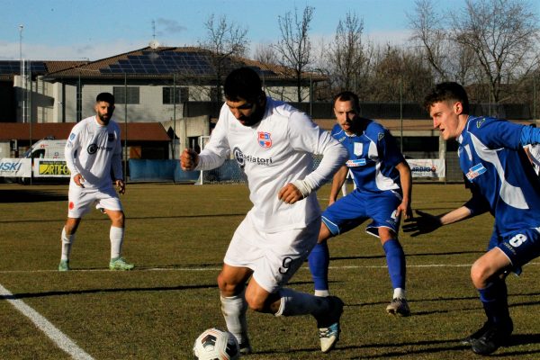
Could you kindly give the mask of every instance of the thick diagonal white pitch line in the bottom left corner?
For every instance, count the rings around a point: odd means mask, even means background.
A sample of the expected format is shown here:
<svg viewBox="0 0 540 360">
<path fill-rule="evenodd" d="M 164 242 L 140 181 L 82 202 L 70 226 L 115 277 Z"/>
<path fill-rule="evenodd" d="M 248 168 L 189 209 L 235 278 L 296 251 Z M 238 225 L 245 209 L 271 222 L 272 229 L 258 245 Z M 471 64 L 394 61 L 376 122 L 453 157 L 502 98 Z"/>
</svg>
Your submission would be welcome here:
<svg viewBox="0 0 540 360">
<path fill-rule="evenodd" d="M 38 329 L 43 331 L 45 335 L 47 335 L 52 340 L 52 342 L 54 342 L 59 348 L 64 350 L 67 355 L 73 357 L 74 359 L 94 360 L 92 356 L 85 353 L 85 350 L 78 347 L 73 340 L 67 338 L 66 334 L 58 330 L 54 325 L 50 323 L 49 320 L 41 316 L 38 311 L 33 310 L 22 300 L 14 299 L 13 297 L 14 294 L 10 293 L 9 290 L 4 288 L 4 286 L 0 284 L 0 298 L 4 298 L 8 302 L 10 302 L 15 309 L 17 309 L 24 316 L 30 319 L 31 322 L 33 322 L 38 327 Z"/>
</svg>

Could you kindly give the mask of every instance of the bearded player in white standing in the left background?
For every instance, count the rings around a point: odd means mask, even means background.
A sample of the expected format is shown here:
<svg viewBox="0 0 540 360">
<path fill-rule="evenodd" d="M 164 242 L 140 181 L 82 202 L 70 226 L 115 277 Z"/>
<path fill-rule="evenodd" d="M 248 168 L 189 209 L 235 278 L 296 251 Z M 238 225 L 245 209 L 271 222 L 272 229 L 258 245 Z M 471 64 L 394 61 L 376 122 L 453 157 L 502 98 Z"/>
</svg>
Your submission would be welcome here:
<svg viewBox="0 0 540 360">
<path fill-rule="evenodd" d="M 111 270 L 133 268 L 121 257 L 124 237 L 124 213 L 114 189 L 125 192 L 121 171 L 120 128 L 111 120 L 114 112 L 114 96 L 98 94 L 95 99 L 95 115 L 78 122 L 66 143 L 66 162 L 71 179 L 69 181 L 67 221 L 62 229 L 62 255 L 59 271 L 69 270 L 69 255 L 75 241 L 76 229 L 82 216 L 94 205 L 103 209 L 112 221 Z M 111 170 L 114 179 L 111 178 Z"/>
</svg>

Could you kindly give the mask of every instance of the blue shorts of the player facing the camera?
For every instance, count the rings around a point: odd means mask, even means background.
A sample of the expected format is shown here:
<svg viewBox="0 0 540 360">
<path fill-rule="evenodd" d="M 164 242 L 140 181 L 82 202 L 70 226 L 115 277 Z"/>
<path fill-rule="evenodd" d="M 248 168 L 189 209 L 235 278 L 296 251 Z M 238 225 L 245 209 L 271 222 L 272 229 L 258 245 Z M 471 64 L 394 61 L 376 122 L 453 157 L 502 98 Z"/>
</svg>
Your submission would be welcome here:
<svg viewBox="0 0 540 360">
<path fill-rule="evenodd" d="M 378 237 L 381 227 L 397 234 L 400 218 L 396 217 L 396 209 L 401 199 L 401 194 L 393 191 L 361 193 L 355 190 L 331 204 L 322 213 L 322 221 L 334 236 L 355 229 L 368 219 L 373 220 L 365 229 L 369 234 Z"/>
</svg>

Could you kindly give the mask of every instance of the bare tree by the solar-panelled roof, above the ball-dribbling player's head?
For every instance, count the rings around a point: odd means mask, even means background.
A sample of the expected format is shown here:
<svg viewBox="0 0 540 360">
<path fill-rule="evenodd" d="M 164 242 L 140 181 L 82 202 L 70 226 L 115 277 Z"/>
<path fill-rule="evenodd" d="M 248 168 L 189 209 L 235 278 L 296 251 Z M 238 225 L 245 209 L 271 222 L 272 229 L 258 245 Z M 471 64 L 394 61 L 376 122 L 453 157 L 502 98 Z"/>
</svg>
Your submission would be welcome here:
<svg viewBox="0 0 540 360">
<path fill-rule="evenodd" d="M 216 92 L 212 100 L 219 103 L 222 98 L 222 78 L 230 70 L 230 59 L 243 57 L 247 52 L 247 29 L 229 22 L 225 15 L 216 19 L 214 14 L 208 17 L 204 27 L 207 37 L 200 42 L 200 46 L 211 53 L 211 65 L 216 75 Z"/>
</svg>

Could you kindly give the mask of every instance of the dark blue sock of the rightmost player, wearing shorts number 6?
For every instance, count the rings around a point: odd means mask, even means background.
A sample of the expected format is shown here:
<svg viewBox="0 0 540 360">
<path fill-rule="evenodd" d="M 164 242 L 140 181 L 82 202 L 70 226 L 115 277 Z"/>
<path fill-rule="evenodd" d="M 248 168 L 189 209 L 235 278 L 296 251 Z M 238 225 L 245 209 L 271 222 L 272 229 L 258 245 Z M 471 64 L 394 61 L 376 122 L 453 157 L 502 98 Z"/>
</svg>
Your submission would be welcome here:
<svg viewBox="0 0 540 360">
<path fill-rule="evenodd" d="M 504 280 L 496 280 L 483 289 L 478 289 L 488 321 L 494 324 L 508 323 L 510 320 L 508 289 Z"/>
</svg>

